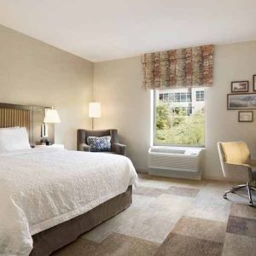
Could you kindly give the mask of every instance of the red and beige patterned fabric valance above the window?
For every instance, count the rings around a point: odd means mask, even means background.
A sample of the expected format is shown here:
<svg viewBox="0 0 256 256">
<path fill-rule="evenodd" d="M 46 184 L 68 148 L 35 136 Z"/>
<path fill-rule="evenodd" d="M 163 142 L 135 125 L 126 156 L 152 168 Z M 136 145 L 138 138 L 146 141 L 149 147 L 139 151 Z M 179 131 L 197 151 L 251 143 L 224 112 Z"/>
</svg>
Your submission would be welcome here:
<svg viewBox="0 0 256 256">
<path fill-rule="evenodd" d="M 143 87 L 165 89 L 212 86 L 213 45 L 143 55 Z"/>
</svg>

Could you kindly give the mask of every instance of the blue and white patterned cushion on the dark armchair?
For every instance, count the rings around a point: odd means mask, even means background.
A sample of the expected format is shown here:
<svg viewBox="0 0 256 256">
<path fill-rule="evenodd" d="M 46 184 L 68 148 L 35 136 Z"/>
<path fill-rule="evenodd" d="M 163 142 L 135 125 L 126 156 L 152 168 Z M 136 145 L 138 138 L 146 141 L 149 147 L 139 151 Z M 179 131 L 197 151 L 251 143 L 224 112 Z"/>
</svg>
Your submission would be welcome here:
<svg viewBox="0 0 256 256">
<path fill-rule="evenodd" d="M 87 137 L 87 144 L 91 152 L 102 152 L 111 150 L 111 137 Z"/>
</svg>

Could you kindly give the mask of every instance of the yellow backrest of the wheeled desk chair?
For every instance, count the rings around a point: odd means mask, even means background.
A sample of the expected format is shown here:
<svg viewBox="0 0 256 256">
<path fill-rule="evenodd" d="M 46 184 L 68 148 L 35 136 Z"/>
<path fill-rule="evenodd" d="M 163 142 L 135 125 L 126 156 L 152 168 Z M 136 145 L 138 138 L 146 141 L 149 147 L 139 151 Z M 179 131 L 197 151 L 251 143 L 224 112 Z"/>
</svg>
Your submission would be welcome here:
<svg viewBox="0 0 256 256">
<path fill-rule="evenodd" d="M 218 154 L 220 164 L 224 176 L 226 177 L 225 163 L 228 164 L 248 164 L 250 160 L 250 151 L 246 143 L 243 142 L 230 142 L 218 143 Z"/>
</svg>

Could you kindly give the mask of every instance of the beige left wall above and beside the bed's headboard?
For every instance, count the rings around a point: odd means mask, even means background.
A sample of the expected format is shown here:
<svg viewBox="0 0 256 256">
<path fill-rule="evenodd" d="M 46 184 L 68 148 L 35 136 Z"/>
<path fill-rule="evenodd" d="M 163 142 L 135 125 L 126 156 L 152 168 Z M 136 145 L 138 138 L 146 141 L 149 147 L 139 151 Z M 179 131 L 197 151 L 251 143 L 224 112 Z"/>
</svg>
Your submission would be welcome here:
<svg viewBox="0 0 256 256">
<path fill-rule="evenodd" d="M 55 143 L 76 148 L 76 130 L 90 127 L 93 63 L 0 26 L 0 102 L 54 106 Z"/>
</svg>

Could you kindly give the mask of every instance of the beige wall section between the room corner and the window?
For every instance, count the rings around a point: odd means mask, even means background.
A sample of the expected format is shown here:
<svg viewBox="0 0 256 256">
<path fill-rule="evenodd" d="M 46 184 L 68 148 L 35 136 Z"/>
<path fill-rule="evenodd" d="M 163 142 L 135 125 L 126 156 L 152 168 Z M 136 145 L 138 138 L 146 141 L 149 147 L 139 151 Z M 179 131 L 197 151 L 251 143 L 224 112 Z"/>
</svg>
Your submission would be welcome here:
<svg viewBox="0 0 256 256">
<path fill-rule="evenodd" d="M 96 128 L 117 128 L 137 169 L 147 168 L 150 145 L 150 92 L 142 89 L 140 57 L 95 64 L 96 101 L 102 118 Z"/>
</svg>

